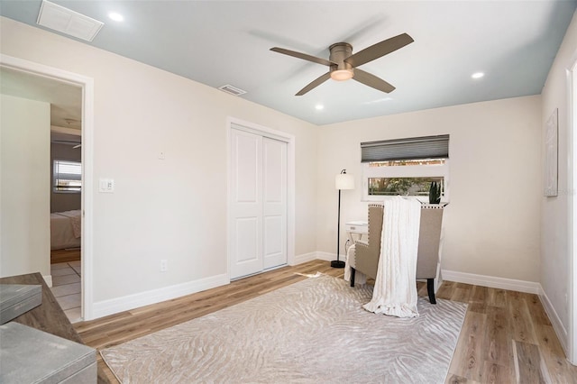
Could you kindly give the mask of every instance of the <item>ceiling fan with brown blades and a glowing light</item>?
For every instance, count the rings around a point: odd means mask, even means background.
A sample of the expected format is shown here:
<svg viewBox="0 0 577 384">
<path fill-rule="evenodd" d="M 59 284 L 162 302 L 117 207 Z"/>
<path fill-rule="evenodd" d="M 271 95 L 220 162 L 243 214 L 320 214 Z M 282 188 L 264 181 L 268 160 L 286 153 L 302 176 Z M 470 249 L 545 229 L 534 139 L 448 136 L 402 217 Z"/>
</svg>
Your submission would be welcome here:
<svg viewBox="0 0 577 384">
<path fill-rule="evenodd" d="M 279 47 L 273 47 L 270 50 L 329 67 L 328 72 L 311 81 L 307 87 L 299 90 L 295 96 L 305 95 L 308 91 L 320 86 L 329 78 L 332 78 L 336 81 L 343 81 L 353 78 L 353 80 L 356 80 L 365 86 L 373 87 L 382 92 L 389 93 L 394 91 L 395 87 L 391 86 L 382 78 L 377 78 L 376 76 L 371 75 L 369 72 L 365 72 L 364 70 L 358 69 L 357 67 L 360 67 L 362 64 L 366 64 L 374 59 L 379 59 L 380 57 L 385 56 L 392 51 L 398 50 L 399 48 L 402 48 L 413 41 L 413 38 L 410 37 L 407 33 L 401 33 L 398 36 L 380 41 L 374 45 L 371 45 L 369 48 L 360 50 L 355 54 L 353 54 L 353 46 L 351 44 L 348 42 L 337 42 L 328 48 L 331 52 L 328 60 L 316 58 L 315 56 L 307 55 L 306 53 L 300 53 L 294 50 L 286 50 Z"/>
</svg>

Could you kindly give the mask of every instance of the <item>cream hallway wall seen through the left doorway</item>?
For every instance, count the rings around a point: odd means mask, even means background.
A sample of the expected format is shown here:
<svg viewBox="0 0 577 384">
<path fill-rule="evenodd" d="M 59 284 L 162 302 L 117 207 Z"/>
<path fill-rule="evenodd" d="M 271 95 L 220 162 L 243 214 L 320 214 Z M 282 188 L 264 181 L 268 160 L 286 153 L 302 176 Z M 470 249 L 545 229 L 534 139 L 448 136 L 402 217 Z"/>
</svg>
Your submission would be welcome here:
<svg viewBox="0 0 577 384">
<path fill-rule="evenodd" d="M 0 277 L 49 276 L 50 104 L 0 97 Z"/>
</svg>

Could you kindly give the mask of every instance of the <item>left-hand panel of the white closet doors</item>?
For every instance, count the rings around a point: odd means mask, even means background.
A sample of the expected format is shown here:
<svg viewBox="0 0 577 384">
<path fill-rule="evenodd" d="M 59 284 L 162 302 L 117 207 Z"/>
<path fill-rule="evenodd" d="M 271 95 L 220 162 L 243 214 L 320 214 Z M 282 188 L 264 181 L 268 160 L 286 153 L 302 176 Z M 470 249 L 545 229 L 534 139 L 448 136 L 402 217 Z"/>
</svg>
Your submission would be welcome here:
<svg viewBox="0 0 577 384">
<path fill-rule="evenodd" d="M 231 133 L 231 279 L 262 270 L 262 137 Z"/>
</svg>

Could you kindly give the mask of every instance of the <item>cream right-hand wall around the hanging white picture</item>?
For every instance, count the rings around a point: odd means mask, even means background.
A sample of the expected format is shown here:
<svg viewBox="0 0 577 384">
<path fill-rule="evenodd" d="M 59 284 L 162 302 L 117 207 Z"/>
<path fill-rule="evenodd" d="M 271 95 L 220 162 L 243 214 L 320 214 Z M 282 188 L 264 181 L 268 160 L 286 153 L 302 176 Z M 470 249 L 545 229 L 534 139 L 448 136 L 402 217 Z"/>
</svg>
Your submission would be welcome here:
<svg viewBox="0 0 577 384">
<path fill-rule="evenodd" d="M 559 117 L 559 184 L 557 197 L 541 197 L 543 221 L 541 225 L 541 285 L 554 312 L 563 325 L 559 335 L 563 345 L 567 345 L 569 327 L 568 289 L 570 287 L 570 234 L 568 228 L 569 199 L 575 191 L 569 185 L 569 100 L 567 69 L 577 60 L 577 14 L 573 14 L 563 43 L 554 59 L 545 87 L 542 104 L 542 135 L 545 138 L 545 123 L 554 108 L 558 108 Z M 542 164 L 545 162 L 545 151 L 542 148 Z M 555 319 L 554 319 L 555 320 Z"/>
</svg>

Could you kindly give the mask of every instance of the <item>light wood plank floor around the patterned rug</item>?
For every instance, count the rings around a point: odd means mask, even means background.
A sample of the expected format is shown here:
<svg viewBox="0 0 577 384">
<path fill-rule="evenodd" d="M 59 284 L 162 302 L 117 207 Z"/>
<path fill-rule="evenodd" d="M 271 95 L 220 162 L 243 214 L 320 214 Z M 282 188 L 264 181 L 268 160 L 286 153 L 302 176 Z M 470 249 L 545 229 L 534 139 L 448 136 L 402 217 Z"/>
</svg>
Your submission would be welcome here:
<svg viewBox="0 0 577 384">
<path fill-rule="evenodd" d="M 87 345 L 103 349 L 306 279 L 295 273 L 316 271 L 343 276 L 328 261 L 309 261 L 74 326 Z M 426 297 L 426 285 L 417 288 Z M 445 281 L 437 297 L 469 303 L 447 383 L 577 383 L 577 367 L 565 360 L 536 295 Z M 105 378 L 117 382 L 98 359 Z"/>
</svg>

